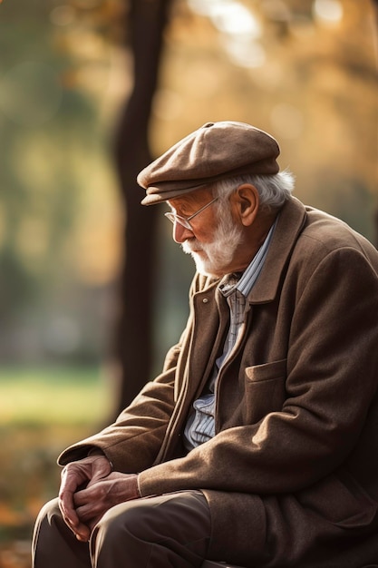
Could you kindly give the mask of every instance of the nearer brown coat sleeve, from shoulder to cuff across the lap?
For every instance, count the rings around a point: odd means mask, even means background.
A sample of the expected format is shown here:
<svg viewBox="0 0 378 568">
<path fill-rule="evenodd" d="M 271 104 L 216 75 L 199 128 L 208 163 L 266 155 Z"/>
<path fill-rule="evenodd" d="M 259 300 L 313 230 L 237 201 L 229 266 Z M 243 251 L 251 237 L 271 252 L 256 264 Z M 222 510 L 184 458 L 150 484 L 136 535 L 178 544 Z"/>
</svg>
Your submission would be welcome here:
<svg viewBox="0 0 378 568">
<path fill-rule="evenodd" d="M 296 492 L 344 464 L 376 397 L 377 268 L 352 247 L 313 263 L 286 290 L 295 309 L 281 409 L 142 472 L 142 495 L 190 488 Z"/>
</svg>

